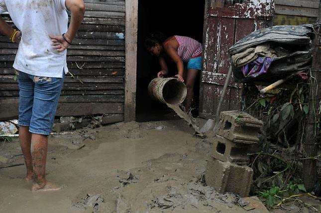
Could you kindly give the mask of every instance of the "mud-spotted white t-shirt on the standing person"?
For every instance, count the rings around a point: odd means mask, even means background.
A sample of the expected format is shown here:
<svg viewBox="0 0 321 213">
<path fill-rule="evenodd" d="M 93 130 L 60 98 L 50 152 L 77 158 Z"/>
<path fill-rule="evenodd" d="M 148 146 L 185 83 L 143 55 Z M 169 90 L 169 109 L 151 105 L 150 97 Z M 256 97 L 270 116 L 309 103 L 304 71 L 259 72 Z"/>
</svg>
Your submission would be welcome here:
<svg viewBox="0 0 321 213">
<path fill-rule="evenodd" d="M 67 51 L 53 49 L 48 36 L 67 32 L 66 9 L 65 0 L 0 0 L 0 14 L 7 11 L 22 33 L 14 69 L 46 77 L 68 72 Z"/>
</svg>

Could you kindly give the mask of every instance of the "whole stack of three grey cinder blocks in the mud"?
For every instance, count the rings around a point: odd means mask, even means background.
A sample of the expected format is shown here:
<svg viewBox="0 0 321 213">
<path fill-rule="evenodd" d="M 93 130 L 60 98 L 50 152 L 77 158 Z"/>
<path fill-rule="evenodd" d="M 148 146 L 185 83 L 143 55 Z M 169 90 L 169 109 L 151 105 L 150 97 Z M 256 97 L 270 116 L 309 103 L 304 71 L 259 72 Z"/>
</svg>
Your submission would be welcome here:
<svg viewBox="0 0 321 213">
<path fill-rule="evenodd" d="M 250 144 L 257 143 L 263 122 L 239 111 L 220 113 L 205 180 L 219 193 L 233 192 L 247 197 L 253 170 L 247 166 Z"/>
</svg>

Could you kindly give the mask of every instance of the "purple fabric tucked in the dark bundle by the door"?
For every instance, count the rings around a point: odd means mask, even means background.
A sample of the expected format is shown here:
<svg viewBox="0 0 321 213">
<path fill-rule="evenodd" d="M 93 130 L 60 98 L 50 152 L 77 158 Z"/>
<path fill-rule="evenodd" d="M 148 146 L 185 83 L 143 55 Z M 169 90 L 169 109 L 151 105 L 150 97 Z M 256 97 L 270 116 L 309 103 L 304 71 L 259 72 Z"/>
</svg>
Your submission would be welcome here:
<svg viewBox="0 0 321 213">
<path fill-rule="evenodd" d="M 266 73 L 274 58 L 258 57 L 254 61 L 242 67 L 245 77 L 256 77 Z"/>
</svg>

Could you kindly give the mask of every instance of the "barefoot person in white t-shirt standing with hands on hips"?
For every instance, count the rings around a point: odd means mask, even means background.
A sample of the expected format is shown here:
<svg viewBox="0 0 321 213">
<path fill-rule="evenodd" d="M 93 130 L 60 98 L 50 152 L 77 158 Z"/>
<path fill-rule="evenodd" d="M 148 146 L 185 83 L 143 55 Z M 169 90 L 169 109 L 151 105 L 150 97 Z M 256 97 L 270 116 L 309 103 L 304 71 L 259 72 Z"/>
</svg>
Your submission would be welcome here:
<svg viewBox="0 0 321 213">
<path fill-rule="evenodd" d="M 68 27 L 67 10 L 71 12 Z M 46 180 L 46 157 L 65 73 L 66 53 L 85 13 L 83 0 L 0 0 L 17 29 L 0 16 L 0 33 L 18 43 L 13 63 L 19 82 L 19 141 L 32 191 L 61 186 Z"/>
</svg>

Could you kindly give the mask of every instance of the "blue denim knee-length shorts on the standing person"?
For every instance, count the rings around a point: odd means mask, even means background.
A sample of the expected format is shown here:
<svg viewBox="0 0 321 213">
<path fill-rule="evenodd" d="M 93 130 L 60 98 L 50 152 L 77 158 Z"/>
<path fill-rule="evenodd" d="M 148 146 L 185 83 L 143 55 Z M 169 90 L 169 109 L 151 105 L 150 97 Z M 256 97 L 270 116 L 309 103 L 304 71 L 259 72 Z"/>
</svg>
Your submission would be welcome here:
<svg viewBox="0 0 321 213">
<path fill-rule="evenodd" d="M 57 110 L 62 78 L 42 77 L 16 71 L 19 82 L 19 125 L 29 132 L 50 135 Z"/>
</svg>

